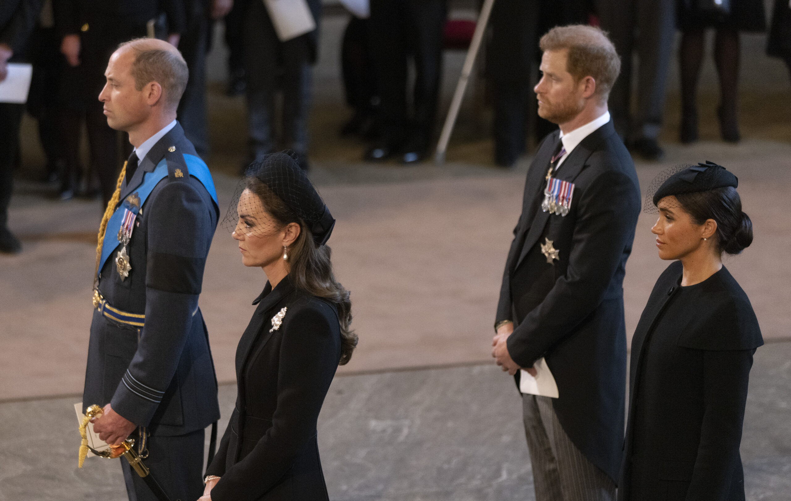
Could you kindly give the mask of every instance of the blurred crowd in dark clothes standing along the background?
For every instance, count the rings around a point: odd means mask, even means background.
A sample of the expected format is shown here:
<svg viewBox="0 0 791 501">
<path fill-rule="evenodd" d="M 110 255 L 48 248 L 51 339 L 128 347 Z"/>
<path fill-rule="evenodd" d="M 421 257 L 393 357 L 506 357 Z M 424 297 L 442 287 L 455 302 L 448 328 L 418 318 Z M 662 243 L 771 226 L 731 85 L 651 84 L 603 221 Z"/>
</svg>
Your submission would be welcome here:
<svg viewBox="0 0 791 501">
<path fill-rule="evenodd" d="M 305 0 L 316 30 L 281 41 L 260 0 L 3 0 L 0 4 L 0 79 L 9 62 L 33 65 L 26 104 L 0 103 L 0 252 L 19 252 L 7 228 L 13 172 L 21 165 L 20 123 L 37 123 L 46 157 L 44 181 L 56 198 L 101 198 L 115 189 L 129 142 L 108 127 L 102 103 L 104 68 L 119 43 L 156 36 L 176 45 L 190 79 L 178 117 L 202 156 L 209 154 L 206 56 L 213 44 L 228 49 L 228 96 L 244 96 L 247 135 L 239 169 L 277 150 L 293 150 L 309 168 L 308 117 L 312 68 L 320 54 L 322 12 L 343 9 L 332 0 Z M 426 160 L 441 125 L 443 54 L 467 50 L 478 0 L 356 0 L 339 47 L 349 118 L 340 130 L 365 146 L 369 162 L 414 164 Z M 722 9 L 722 4 L 726 9 Z M 458 5 L 456 5 L 458 4 Z M 463 5 L 462 5 L 463 4 Z M 768 8 L 767 8 L 768 7 Z M 224 24 L 223 40 L 215 24 Z M 589 23 L 611 36 L 623 59 L 610 96 L 615 127 L 633 154 L 661 160 L 663 112 L 673 40 L 679 47 L 679 141 L 698 140 L 697 89 L 706 30 L 713 30 L 713 58 L 720 87 L 716 120 L 721 139 L 740 141 L 737 114 L 740 32 L 767 32 L 766 54 L 791 70 L 789 0 L 495 0 L 479 58 L 476 85 L 481 107 L 491 112 L 494 164 L 510 168 L 554 124 L 536 114 L 539 37 L 555 25 Z M 83 131 L 87 141 L 81 138 Z M 81 146 L 88 151 L 81 152 Z M 85 159 L 87 158 L 87 161 Z"/>
</svg>

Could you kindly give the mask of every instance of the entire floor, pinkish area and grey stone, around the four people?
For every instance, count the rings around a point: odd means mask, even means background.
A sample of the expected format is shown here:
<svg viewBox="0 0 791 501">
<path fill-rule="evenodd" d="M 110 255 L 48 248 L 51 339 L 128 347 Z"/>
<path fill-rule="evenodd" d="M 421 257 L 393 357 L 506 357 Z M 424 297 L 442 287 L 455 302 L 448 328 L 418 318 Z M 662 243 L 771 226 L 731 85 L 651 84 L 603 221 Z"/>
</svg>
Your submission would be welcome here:
<svg viewBox="0 0 791 501">
<path fill-rule="evenodd" d="M 353 291 L 361 339 L 320 418 L 331 499 L 533 499 L 518 395 L 488 362 L 499 277 L 529 157 L 513 170 L 494 167 L 490 119 L 467 100 L 445 166 L 359 161 L 362 143 L 336 134 L 349 113 L 338 65 L 345 22 L 323 20 L 311 118 L 311 176 L 338 219 L 333 260 Z M 665 167 L 703 160 L 740 178 L 755 242 L 725 264 L 751 298 L 766 340 L 774 341 L 755 356 L 747 402 L 747 499 L 779 501 L 791 499 L 791 218 L 783 203 L 791 190 L 791 86 L 785 67 L 763 56 L 764 43 L 761 35 L 743 37 L 743 142 L 718 139 L 710 61 L 701 78 L 702 140 L 676 142 L 673 63 L 661 136 L 667 158 L 638 161 L 637 168 L 642 186 Z M 224 210 L 246 130 L 244 99 L 222 94 L 223 57 L 221 46 L 210 56 L 207 160 Z M 443 110 L 463 58 L 445 55 Z M 56 202 L 55 188 L 35 181 L 42 156 L 34 125 L 25 120 L 9 222 L 25 252 L 0 256 L 0 501 L 125 499 L 117 464 L 94 458 L 76 469 L 72 404 L 85 374 L 101 207 L 92 200 Z M 629 334 L 667 265 L 657 258 L 652 224 L 642 214 L 627 265 Z M 218 229 L 200 305 L 225 382 L 225 417 L 235 393 L 233 354 L 263 281 L 260 271 L 241 266 L 228 232 Z"/>
</svg>

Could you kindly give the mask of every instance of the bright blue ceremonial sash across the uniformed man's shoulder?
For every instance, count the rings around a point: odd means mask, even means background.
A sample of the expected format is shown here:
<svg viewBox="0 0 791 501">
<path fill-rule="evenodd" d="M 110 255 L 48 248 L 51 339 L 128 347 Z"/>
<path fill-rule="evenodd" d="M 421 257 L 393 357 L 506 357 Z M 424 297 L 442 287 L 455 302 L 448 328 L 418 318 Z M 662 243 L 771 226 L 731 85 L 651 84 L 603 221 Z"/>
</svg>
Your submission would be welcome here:
<svg viewBox="0 0 791 501">
<path fill-rule="evenodd" d="M 207 167 L 206 163 L 200 158 L 195 157 L 195 155 L 184 154 L 183 156 L 190 176 L 195 176 L 195 178 L 203 184 L 203 187 L 206 188 L 206 191 L 211 195 L 211 199 L 214 200 L 214 203 L 219 207 L 219 203 L 217 202 L 217 190 L 214 189 L 214 180 L 211 178 L 209 167 Z M 153 188 L 157 186 L 157 183 L 167 176 L 168 161 L 165 160 L 165 158 L 159 161 L 157 167 L 154 168 L 152 172 L 143 175 L 143 182 L 134 190 L 134 193 L 140 197 L 140 207 L 146 202 L 148 195 L 153 192 Z M 107 231 L 104 232 L 104 241 L 102 241 L 101 247 L 101 260 L 99 261 L 99 270 L 97 271 L 99 275 L 101 275 L 101 270 L 104 268 L 104 262 L 120 245 L 118 241 L 118 230 L 123 222 L 123 214 L 125 212 L 123 208 L 123 200 L 119 200 L 118 207 L 107 222 Z"/>
</svg>

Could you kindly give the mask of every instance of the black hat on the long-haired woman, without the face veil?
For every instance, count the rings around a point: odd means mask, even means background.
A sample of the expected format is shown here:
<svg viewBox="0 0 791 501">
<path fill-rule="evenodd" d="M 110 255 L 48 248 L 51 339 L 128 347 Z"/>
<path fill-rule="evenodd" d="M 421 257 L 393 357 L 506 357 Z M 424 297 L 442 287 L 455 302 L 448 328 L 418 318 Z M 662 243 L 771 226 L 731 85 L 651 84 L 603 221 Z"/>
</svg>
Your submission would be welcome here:
<svg viewBox="0 0 791 501">
<path fill-rule="evenodd" d="M 313 188 L 308 175 L 301 169 L 291 152 L 268 154 L 253 161 L 244 171 L 244 179 L 251 177 L 266 184 L 286 204 L 286 207 L 305 222 L 316 245 L 327 243 L 335 227 L 335 218 L 332 217 L 324 200 L 316 192 L 316 188 Z M 237 190 L 238 195 L 244 191 L 244 179 L 240 183 L 240 189 Z M 226 216 L 229 227 L 237 224 L 239 196 L 235 199 L 236 201 L 232 201 L 229 207 L 229 215 Z"/>
</svg>

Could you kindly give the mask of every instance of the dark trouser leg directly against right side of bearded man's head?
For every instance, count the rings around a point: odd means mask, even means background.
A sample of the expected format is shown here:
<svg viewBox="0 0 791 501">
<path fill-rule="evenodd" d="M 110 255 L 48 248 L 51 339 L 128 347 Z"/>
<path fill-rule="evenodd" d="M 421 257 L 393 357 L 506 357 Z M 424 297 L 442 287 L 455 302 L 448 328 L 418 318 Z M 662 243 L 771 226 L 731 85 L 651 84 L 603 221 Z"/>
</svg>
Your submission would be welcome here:
<svg viewBox="0 0 791 501">
<path fill-rule="evenodd" d="M 615 131 L 622 138 L 630 130 L 632 50 L 634 48 L 635 2 L 637 0 L 597 0 L 601 28 L 610 34 L 621 56 L 621 74 L 610 91 L 608 105 Z M 657 2 L 660 0 L 657 0 Z"/>
</svg>

